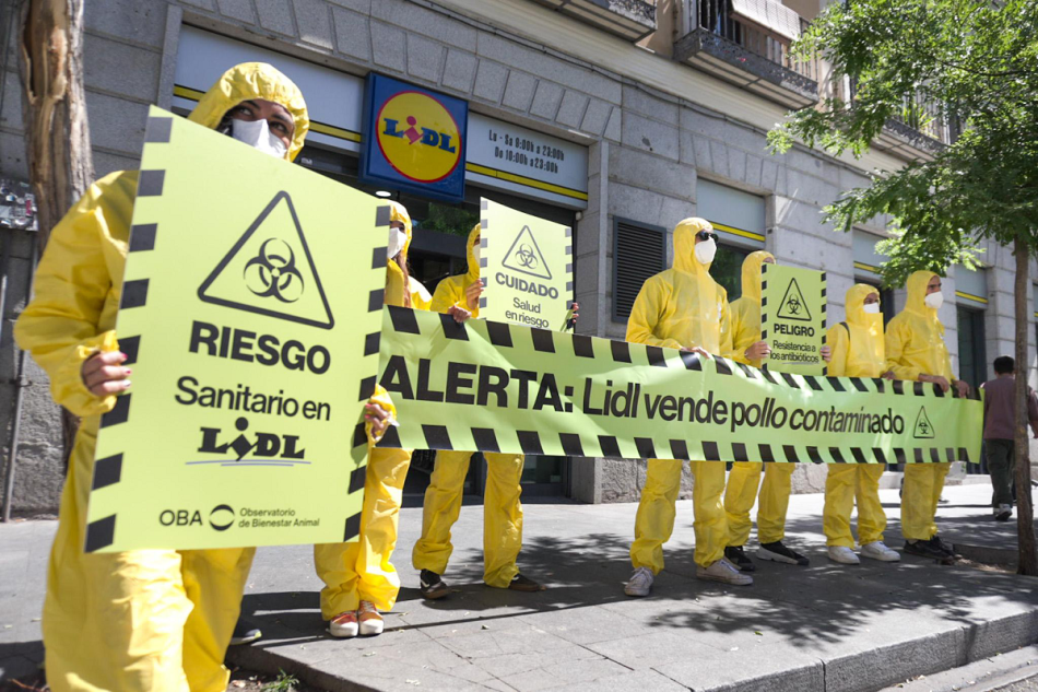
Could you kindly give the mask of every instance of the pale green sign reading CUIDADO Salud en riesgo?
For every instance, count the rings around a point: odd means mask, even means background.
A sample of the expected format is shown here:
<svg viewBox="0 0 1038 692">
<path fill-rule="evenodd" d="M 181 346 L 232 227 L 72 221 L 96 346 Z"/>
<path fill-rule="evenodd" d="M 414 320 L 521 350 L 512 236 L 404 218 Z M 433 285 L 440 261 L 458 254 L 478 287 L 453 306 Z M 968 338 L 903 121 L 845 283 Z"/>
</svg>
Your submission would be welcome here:
<svg viewBox="0 0 1038 692">
<path fill-rule="evenodd" d="M 562 329 L 573 304 L 573 228 L 481 200 L 480 317 Z"/>
</svg>

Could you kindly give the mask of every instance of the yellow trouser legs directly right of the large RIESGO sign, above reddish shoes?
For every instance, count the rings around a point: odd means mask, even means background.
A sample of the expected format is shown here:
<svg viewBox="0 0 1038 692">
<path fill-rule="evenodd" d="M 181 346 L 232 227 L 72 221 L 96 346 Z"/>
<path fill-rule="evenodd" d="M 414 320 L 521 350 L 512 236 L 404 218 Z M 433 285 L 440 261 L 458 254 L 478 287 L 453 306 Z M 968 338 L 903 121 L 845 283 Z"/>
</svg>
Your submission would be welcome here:
<svg viewBox="0 0 1038 692">
<path fill-rule="evenodd" d="M 400 502 L 410 466 L 410 449 L 369 447 L 359 537 L 349 543 L 314 547 L 317 576 L 325 583 L 325 620 L 356 610 L 362 600 L 379 610 L 390 610 L 397 602 L 400 576 L 390 559 L 397 547 Z"/>
</svg>

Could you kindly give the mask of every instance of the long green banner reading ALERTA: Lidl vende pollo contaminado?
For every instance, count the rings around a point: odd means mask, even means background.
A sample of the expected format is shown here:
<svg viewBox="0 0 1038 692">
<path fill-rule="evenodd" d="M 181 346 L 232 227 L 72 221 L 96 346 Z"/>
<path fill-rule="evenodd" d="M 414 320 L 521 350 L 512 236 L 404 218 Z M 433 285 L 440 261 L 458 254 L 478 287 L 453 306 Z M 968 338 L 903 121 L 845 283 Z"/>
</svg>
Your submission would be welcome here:
<svg viewBox="0 0 1038 692">
<path fill-rule="evenodd" d="M 759 371 L 691 352 L 389 307 L 386 447 L 716 461 L 979 461 L 982 404 L 922 383 Z"/>
</svg>

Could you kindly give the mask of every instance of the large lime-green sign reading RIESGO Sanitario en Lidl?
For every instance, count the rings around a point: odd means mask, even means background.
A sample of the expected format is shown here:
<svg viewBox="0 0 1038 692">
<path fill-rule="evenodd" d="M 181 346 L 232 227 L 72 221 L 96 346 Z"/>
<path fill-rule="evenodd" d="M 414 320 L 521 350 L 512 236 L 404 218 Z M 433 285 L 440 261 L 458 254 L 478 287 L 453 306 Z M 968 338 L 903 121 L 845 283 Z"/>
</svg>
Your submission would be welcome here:
<svg viewBox="0 0 1038 692">
<path fill-rule="evenodd" d="M 350 540 L 389 209 L 149 112 L 85 549 Z"/>
</svg>

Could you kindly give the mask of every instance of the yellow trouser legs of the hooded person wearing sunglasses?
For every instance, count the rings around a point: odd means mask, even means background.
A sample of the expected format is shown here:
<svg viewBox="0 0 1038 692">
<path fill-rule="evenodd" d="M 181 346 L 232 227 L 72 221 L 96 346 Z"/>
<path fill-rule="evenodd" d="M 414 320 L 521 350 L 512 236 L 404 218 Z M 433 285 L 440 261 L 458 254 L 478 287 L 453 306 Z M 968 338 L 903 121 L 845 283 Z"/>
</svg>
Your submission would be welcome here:
<svg viewBox="0 0 1038 692">
<path fill-rule="evenodd" d="M 696 513 L 697 565 L 707 567 L 724 556 L 728 520 L 721 495 L 724 492 L 724 465 L 720 461 L 691 461 L 695 481 L 692 504 Z M 635 542 L 630 544 L 630 563 L 649 567 L 653 574 L 663 570 L 663 543 L 674 532 L 674 503 L 681 489 L 681 461 L 649 459 L 641 502 L 635 517 Z"/>
</svg>

